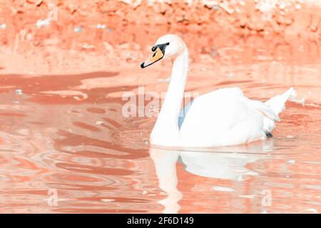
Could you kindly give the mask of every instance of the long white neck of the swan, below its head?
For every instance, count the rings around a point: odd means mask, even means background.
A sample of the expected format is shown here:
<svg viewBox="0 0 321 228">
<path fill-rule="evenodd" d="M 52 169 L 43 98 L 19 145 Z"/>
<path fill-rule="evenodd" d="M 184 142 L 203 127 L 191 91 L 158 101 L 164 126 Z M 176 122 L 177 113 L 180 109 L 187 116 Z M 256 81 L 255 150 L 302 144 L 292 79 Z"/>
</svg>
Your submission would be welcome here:
<svg viewBox="0 0 321 228">
<path fill-rule="evenodd" d="M 185 48 L 173 63 L 172 74 L 165 99 L 153 128 L 151 142 L 167 145 L 178 142 L 178 116 L 184 96 L 185 84 L 188 76 L 188 50 Z M 161 140 L 162 142 L 158 142 Z M 174 143 L 175 144 L 175 143 Z"/>
</svg>

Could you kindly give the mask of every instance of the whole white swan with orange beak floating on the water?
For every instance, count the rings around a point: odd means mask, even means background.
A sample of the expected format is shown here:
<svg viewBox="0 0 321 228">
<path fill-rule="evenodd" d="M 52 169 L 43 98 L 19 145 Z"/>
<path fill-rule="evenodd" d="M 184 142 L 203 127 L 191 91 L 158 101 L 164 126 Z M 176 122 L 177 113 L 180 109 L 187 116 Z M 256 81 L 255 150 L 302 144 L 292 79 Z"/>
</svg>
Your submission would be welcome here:
<svg viewBox="0 0 321 228">
<path fill-rule="evenodd" d="M 141 68 L 163 58 L 175 59 L 168 90 L 151 132 L 151 145 L 218 147 L 265 140 L 272 137 L 285 102 L 295 97 L 295 90 L 290 88 L 263 103 L 245 97 L 238 87 L 220 88 L 198 96 L 180 109 L 188 77 L 188 48 L 179 36 L 167 34 L 158 38 L 151 51 Z"/>
</svg>

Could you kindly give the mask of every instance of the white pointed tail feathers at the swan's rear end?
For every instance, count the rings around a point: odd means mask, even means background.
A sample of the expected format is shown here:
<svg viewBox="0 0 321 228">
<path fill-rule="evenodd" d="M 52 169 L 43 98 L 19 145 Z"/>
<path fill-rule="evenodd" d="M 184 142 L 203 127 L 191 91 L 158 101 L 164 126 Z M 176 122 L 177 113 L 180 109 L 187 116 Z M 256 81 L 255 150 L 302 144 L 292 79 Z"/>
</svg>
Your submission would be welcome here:
<svg viewBox="0 0 321 228">
<path fill-rule="evenodd" d="M 297 93 L 294 88 L 290 88 L 285 93 L 281 95 L 276 95 L 270 98 L 270 100 L 265 101 L 265 104 L 269 106 L 276 115 L 279 115 L 282 110 L 285 110 L 285 103 L 289 99 L 296 99 Z"/>
</svg>

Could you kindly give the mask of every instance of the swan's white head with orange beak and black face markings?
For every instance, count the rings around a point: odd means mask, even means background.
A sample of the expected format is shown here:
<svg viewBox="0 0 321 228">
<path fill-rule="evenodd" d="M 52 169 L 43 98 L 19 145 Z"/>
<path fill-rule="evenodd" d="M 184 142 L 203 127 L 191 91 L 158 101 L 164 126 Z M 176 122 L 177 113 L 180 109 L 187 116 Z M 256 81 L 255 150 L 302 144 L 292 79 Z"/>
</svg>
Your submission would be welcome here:
<svg viewBox="0 0 321 228">
<path fill-rule="evenodd" d="M 146 68 L 162 58 L 178 56 L 184 49 L 185 43 L 180 37 L 172 34 L 161 36 L 151 48 L 151 56 L 141 63 L 141 68 Z"/>
</svg>

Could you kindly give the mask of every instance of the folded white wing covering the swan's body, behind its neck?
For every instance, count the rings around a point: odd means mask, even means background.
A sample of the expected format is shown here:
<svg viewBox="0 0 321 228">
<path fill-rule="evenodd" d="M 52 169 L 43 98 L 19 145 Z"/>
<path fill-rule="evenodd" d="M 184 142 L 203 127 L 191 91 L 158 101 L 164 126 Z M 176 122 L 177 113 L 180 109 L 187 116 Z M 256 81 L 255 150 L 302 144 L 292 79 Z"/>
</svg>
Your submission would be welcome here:
<svg viewBox="0 0 321 228">
<path fill-rule="evenodd" d="M 277 115 L 240 88 L 215 90 L 195 98 L 180 128 L 184 145 L 237 145 L 265 137 Z"/>
</svg>

